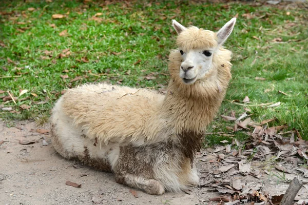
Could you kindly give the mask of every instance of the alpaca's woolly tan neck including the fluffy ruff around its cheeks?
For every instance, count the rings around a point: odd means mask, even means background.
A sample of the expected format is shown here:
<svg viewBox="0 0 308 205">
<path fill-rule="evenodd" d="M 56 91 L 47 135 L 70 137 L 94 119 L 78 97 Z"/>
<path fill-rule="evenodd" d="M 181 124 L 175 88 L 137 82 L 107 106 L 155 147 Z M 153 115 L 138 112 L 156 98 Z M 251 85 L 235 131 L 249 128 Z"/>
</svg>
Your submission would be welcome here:
<svg viewBox="0 0 308 205">
<path fill-rule="evenodd" d="M 213 66 L 204 77 L 185 85 L 179 77 L 181 54 L 177 50 L 171 51 L 168 64 L 171 80 L 160 110 L 174 129 L 173 133 L 205 132 L 221 105 L 231 78 L 230 55 L 230 51 L 219 48 L 218 54 L 213 56 Z"/>
</svg>

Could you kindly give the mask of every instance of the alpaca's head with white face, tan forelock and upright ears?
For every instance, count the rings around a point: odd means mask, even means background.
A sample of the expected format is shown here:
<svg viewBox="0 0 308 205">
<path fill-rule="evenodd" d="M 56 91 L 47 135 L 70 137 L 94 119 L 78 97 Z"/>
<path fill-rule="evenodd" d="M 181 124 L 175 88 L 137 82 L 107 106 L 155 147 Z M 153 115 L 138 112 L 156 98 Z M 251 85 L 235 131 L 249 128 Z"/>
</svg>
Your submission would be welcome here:
<svg viewBox="0 0 308 205">
<path fill-rule="evenodd" d="M 179 77 L 184 84 L 194 84 L 213 68 L 213 56 L 232 32 L 236 18 L 232 18 L 217 33 L 191 26 L 185 28 L 176 20 L 172 26 L 178 33 L 177 45 L 182 56 Z"/>
</svg>

